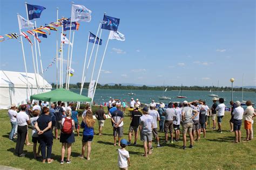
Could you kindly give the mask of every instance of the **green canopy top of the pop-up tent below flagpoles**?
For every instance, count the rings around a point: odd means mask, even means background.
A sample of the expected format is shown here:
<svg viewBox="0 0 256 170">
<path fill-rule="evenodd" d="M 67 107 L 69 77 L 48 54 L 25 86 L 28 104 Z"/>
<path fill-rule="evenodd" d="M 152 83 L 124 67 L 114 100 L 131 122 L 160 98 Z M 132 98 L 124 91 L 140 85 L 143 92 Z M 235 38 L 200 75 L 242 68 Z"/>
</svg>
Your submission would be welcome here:
<svg viewBox="0 0 256 170">
<path fill-rule="evenodd" d="M 77 93 L 73 93 L 72 91 L 59 88 L 56 90 L 52 90 L 46 93 L 41 93 L 38 95 L 32 95 L 30 96 L 31 100 L 41 100 L 41 101 L 47 101 L 47 102 L 57 102 L 57 101 L 63 101 L 63 102 L 71 102 L 71 101 L 79 101 L 79 102 L 91 102 L 91 98 L 79 95 Z"/>
</svg>

